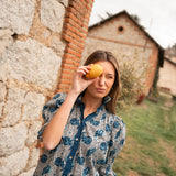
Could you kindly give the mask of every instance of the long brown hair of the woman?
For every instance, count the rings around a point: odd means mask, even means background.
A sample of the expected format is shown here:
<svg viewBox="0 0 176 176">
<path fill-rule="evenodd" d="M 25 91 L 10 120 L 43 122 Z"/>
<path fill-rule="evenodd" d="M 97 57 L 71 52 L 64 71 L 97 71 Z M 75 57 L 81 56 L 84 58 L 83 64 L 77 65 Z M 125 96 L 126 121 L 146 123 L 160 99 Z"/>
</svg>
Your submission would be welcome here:
<svg viewBox="0 0 176 176">
<path fill-rule="evenodd" d="M 94 63 L 97 63 L 99 61 L 110 62 L 116 69 L 114 82 L 113 82 L 112 88 L 111 88 L 111 90 L 108 95 L 111 98 L 111 100 L 106 103 L 107 110 L 109 112 L 116 114 L 116 105 L 117 105 L 117 99 L 118 99 L 119 91 L 120 91 L 120 75 L 119 75 L 118 61 L 111 52 L 95 51 L 92 54 L 89 55 L 89 57 L 86 59 L 84 65 L 94 64 Z"/>
</svg>

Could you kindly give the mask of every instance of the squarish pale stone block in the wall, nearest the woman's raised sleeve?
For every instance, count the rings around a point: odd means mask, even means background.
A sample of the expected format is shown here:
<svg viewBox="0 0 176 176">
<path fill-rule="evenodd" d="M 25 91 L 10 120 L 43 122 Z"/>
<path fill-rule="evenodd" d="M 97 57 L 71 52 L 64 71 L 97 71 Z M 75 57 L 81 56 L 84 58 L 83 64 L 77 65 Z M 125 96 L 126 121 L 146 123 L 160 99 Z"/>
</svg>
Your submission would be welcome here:
<svg viewBox="0 0 176 176">
<path fill-rule="evenodd" d="M 23 120 L 40 118 L 45 97 L 42 94 L 29 92 L 24 99 Z"/>
</svg>

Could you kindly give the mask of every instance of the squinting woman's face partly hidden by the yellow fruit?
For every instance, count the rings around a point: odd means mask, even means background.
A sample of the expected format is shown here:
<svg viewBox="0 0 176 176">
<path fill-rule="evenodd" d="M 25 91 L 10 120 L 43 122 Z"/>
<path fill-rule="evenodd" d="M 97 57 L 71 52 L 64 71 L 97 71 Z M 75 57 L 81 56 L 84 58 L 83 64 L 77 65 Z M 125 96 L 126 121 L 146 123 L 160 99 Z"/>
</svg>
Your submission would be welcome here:
<svg viewBox="0 0 176 176">
<path fill-rule="evenodd" d="M 95 98 L 106 97 L 114 82 L 116 69 L 110 62 L 99 61 L 95 64 L 99 64 L 103 67 L 103 73 L 87 88 L 87 94 Z"/>
</svg>

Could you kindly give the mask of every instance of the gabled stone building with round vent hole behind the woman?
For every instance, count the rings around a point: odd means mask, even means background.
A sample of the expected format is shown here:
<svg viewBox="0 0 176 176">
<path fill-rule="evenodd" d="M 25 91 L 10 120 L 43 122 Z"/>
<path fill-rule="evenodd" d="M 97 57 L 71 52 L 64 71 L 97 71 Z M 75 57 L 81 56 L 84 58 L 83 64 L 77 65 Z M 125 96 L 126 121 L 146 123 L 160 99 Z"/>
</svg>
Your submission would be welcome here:
<svg viewBox="0 0 176 176">
<path fill-rule="evenodd" d="M 111 51 L 120 64 L 130 63 L 136 74 L 145 73 L 145 94 L 163 66 L 164 50 L 127 11 L 89 26 L 82 59 L 95 50 Z"/>
</svg>

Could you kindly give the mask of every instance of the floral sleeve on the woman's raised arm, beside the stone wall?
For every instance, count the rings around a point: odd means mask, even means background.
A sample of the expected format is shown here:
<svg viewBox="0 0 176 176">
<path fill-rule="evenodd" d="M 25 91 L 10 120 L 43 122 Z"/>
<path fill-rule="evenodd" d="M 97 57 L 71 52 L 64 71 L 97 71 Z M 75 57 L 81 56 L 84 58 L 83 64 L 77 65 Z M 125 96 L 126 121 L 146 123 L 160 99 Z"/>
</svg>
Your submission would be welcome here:
<svg viewBox="0 0 176 176">
<path fill-rule="evenodd" d="M 59 109 L 59 107 L 64 102 L 65 98 L 66 98 L 65 94 L 57 94 L 56 96 L 54 96 L 54 98 L 52 100 L 46 102 L 46 105 L 43 107 L 42 117 L 44 120 L 44 124 L 41 128 L 41 130 L 38 131 L 38 135 L 37 135 L 38 140 L 42 141 L 42 134 L 43 134 L 44 129 L 46 128 L 48 122 L 52 120 L 54 114 L 57 112 L 57 110 Z"/>
</svg>

